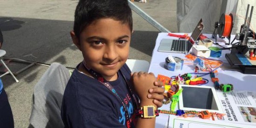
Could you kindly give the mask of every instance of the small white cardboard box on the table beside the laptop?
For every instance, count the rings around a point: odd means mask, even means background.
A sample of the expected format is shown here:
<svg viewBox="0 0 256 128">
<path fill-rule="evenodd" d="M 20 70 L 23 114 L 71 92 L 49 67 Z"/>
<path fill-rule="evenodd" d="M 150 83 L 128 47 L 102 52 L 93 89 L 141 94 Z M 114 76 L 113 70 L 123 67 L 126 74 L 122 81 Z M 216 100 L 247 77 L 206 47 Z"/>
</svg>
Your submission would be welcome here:
<svg viewBox="0 0 256 128">
<path fill-rule="evenodd" d="M 194 45 L 192 47 L 192 53 L 197 56 L 203 56 L 206 58 L 210 56 L 210 50 L 204 45 Z"/>
</svg>

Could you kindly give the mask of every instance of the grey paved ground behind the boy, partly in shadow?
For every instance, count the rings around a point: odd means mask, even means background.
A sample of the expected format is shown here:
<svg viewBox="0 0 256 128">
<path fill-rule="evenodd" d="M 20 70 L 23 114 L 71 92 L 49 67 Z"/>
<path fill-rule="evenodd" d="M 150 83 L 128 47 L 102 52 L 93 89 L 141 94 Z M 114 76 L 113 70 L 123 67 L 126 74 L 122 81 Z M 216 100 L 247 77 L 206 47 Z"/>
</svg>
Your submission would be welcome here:
<svg viewBox="0 0 256 128">
<path fill-rule="evenodd" d="M 77 0 L 0 0 L 0 29 L 4 35 L 2 49 L 6 57 L 45 64 L 59 62 L 75 67 L 82 55 L 71 42 Z M 176 0 L 134 2 L 143 11 L 172 32 L 177 32 Z M 159 31 L 133 12 L 134 34 L 130 59 L 151 60 Z M 7 61 L 13 72 L 27 63 Z M 35 65 L 17 74 L 16 83 L 10 75 L 2 77 L 13 110 L 15 128 L 28 128 L 34 85 L 47 67 Z"/>
</svg>

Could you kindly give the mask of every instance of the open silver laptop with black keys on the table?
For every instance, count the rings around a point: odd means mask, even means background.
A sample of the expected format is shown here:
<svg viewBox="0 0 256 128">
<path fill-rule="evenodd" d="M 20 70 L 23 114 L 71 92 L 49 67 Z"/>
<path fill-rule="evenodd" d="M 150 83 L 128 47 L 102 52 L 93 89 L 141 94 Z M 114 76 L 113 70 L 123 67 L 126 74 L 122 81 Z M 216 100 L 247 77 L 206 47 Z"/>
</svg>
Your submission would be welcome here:
<svg viewBox="0 0 256 128">
<path fill-rule="evenodd" d="M 203 28 L 204 26 L 201 19 L 190 36 L 191 40 L 195 42 L 202 33 Z M 186 39 L 162 39 L 158 51 L 188 54 L 192 46 L 193 44 Z"/>
</svg>

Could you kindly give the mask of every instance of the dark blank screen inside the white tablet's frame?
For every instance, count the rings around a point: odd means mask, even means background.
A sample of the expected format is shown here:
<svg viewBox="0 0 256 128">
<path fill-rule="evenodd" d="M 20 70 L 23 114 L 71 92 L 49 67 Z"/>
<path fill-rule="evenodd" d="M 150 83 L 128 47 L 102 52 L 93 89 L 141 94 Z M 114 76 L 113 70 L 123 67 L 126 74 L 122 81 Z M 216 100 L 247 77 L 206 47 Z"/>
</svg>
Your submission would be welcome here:
<svg viewBox="0 0 256 128">
<path fill-rule="evenodd" d="M 218 110 L 211 88 L 182 87 L 184 108 Z"/>
</svg>

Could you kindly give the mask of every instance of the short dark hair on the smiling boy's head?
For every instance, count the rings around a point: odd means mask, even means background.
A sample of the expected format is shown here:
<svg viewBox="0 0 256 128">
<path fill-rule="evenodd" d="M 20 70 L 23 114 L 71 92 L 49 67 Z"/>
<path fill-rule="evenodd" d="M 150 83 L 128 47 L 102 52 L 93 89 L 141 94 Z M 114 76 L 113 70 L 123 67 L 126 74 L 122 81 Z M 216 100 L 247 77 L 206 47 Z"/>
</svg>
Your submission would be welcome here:
<svg viewBox="0 0 256 128">
<path fill-rule="evenodd" d="M 74 33 L 79 39 L 85 27 L 93 21 L 102 18 L 112 18 L 128 23 L 133 29 L 132 11 L 128 0 L 79 0 L 74 14 Z"/>
</svg>

